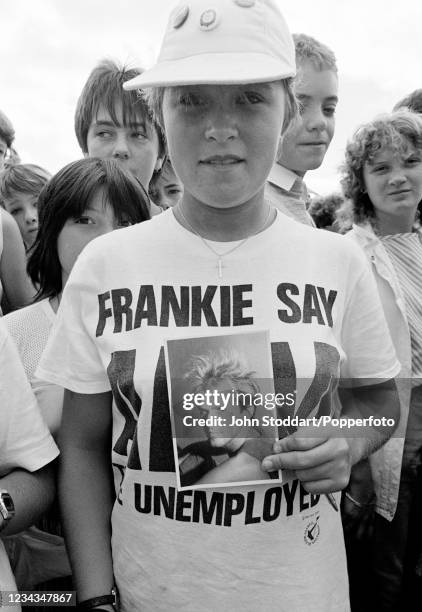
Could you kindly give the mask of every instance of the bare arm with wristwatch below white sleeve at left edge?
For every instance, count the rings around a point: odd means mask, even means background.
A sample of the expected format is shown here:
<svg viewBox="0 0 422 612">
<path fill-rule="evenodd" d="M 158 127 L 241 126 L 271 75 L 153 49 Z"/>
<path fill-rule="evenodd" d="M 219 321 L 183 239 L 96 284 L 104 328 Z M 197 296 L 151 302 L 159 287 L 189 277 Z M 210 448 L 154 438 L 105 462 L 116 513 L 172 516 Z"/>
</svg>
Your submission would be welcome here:
<svg viewBox="0 0 422 612">
<path fill-rule="evenodd" d="M 0 488 L 10 493 L 15 506 L 15 516 L 3 529 L 2 536 L 19 533 L 33 525 L 53 502 L 53 466 L 50 464 L 36 472 L 14 470 L 0 479 Z"/>
</svg>

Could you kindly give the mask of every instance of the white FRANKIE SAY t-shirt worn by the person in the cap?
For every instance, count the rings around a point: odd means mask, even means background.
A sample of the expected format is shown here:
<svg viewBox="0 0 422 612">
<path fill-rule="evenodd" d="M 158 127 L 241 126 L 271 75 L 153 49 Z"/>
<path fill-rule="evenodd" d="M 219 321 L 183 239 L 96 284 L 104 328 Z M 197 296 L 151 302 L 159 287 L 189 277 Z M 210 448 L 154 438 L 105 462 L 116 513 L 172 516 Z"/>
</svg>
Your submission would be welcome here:
<svg viewBox="0 0 422 612">
<path fill-rule="evenodd" d="M 79 393 L 113 390 L 124 612 L 349 609 L 340 515 L 324 496 L 297 480 L 176 490 L 165 340 L 257 329 L 269 330 L 274 378 L 301 388 L 303 415 L 331 376 L 399 369 L 360 250 L 284 215 L 223 258 L 222 278 L 172 211 L 94 240 L 74 267 L 38 375 Z"/>
</svg>

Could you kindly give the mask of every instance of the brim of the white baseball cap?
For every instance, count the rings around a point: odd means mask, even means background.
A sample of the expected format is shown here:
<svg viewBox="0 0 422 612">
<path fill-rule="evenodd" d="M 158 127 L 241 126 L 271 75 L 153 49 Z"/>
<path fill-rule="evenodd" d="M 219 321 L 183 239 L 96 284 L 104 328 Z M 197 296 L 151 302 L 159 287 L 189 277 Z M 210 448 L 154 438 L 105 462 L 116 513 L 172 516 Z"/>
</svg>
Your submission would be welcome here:
<svg viewBox="0 0 422 612">
<path fill-rule="evenodd" d="M 217 53 L 161 61 L 150 70 L 126 81 L 124 89 L 174 85 L 235 85 L 266 83 L 295 76 L 286 60 L 260 53 Z"/>
</svg>

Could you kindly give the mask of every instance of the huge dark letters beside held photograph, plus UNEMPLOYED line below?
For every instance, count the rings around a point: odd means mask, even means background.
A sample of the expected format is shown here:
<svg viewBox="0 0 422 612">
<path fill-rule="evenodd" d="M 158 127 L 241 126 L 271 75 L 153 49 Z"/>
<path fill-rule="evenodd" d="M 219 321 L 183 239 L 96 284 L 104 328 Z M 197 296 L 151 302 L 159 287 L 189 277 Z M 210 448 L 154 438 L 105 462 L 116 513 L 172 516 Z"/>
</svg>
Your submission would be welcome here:
<svg viewBox="0 0 422 612">
<path fill-rule="evenodd" d="M 336 381 L 338 377 L 340 356 L 335 347 L 320 342 L 314 343 L 314 351 L 316 364 L 314 378 L 310 381 L 302 402 L 298 406 L 293 405 L 288 409 L 292 415 L 300 413 L 302 417 L 306 417 L 311 413 L 326 414 L 327 410 L 331 410 L 330 390 L 336 384 L 333 381 Z M 271 343 L 271 356 L 274 390 L 287 395 L 297 386 L 296 367 L 289 343 Z M 113 396 L 116 404 L 120 402 L 119 412 L 127 419 L 116 442 L 119 450 L 125 447 L 128 453 L 127 465 L 124 463 L 123 465 L 114 465 L 121 481 L 125 477 L 126 468 L 138 473 L 145 469 L 139 461 L 138 450 L 138 440 L 142 438 L 142 435 L 134 427 L 134 415 L 139 415 L 142 405 L 133 380 L 135 360 L 136 352 L 134 350 L 118 351 L 113 354 L 108 369 Z M 122 372 L 125 372 L 125 374 L 123 375 Z M 128 372 L 130 373 L 129 376 Z M 119 380 L 120 375 L 124 376 L 124 381 Z M 148 471 L 150 473 L 174 473 L 175 464 L 163 347 L 156 364 L 153 388 Z M 124 389 L 125 401 L 122 400 L 122 389 Z M 132 410 L 128 409 L 128 403 L 131 403 L 131 401 L 135 404 Z M 283 408 L 283 411 L 279 410 L 278 414 L 284 417 L 286 411 Z M 287 433 L 292 433 L 292 431 L 279 430 L 280 437 L 287 435 Z M 132 444 L 129 449 L 130 440 L 132 440 Z M 122 456 L 121 459 L 124 461 L 125 458 Z M 239 493 L 205 490 L 178 491 L 176 486 L 135 482 L 133 485 L 133 504 L 139 513 L 153 513 L 172 520 L 201 522 L 224 527 L 230 526 L 233 521 L 241 521 L 241 523 L 248 525 L 261 521 L 274 521 L 280 515 L 292 516 L 294 512 L 303 512 L 312 508 L 318 504 L 320 498 L 319 495 L 308 493 L 298 480 L 286 482 L 281 486 L 264 488 L 262 491 L 263 496 L 258 495 L 256 490 Z M 118 500 L 121 503 L 120 495 Z"/>
</svg>

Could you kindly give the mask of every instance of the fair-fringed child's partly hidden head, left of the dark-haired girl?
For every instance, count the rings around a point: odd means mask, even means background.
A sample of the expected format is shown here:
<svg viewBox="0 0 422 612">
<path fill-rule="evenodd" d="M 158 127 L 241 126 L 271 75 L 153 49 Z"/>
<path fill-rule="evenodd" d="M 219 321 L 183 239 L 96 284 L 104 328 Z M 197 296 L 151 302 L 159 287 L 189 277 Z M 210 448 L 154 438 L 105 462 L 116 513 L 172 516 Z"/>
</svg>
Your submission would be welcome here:
<svg viewBox="0 0 422 612">
<path fill-rule="evenodd" d="M 14 217 L 27 251 L 38 233 L 38 196 L 50 178 L 35 164 L 10 166 L 0 175 L 0 205 Z"/>
</svg>

